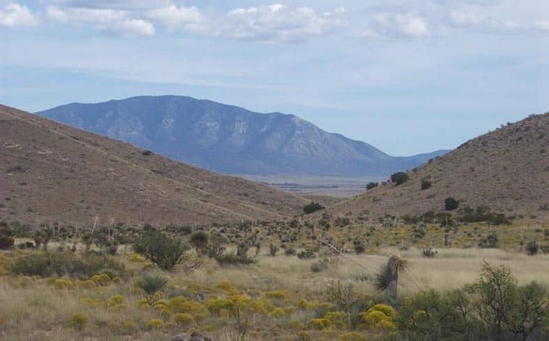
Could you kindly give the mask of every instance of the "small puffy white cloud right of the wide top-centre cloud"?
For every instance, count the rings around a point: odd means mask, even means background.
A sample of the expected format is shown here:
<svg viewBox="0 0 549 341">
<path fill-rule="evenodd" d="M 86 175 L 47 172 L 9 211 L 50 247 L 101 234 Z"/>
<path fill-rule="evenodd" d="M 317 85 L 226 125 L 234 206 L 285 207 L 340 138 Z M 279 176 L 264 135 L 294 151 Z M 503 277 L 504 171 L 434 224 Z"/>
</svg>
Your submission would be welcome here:
<svg viewBox="0 0 549 341">
<path fill-rule="evenodd" d="M 429 35 L 426 21 L 414 13 L 373 15 L 372 27 L 364 31 L 369 37 L 422 38 Z"/>
</svg>

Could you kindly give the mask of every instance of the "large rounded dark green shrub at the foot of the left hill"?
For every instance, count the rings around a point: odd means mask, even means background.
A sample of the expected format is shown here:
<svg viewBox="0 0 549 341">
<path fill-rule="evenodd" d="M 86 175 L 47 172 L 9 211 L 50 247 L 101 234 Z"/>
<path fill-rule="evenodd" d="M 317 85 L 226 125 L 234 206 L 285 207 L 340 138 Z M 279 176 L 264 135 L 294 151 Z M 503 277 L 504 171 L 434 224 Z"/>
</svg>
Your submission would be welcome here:
<svg viewBox="0 0 549 341">
<path fill-rule="evenodd" d="M 176 264 L 185 260 L 190 246 L 180 239 L 171 239 L 164 233 L 151 230 L 134 243 L 134 251 L 144 255 L 158 267 L 171 271 Z"/>
</svg>

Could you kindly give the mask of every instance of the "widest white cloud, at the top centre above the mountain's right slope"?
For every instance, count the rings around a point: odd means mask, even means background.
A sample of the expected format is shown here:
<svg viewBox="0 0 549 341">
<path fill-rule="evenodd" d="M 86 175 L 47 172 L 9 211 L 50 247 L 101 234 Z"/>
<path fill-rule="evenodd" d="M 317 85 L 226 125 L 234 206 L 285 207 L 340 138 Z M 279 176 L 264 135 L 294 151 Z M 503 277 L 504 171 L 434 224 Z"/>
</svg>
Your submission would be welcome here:
<svg viewBox="0 0 549 341">
<path fill-rule="evenodd" d="M 345 12 L 344 8 L 336 8 L 316 13 L 313 8 L 291 8 L 281 3 L 236 8 L 226 14 L 222 34 L 237 40 L 300 42 L 342 26 Z"/>
</svg>

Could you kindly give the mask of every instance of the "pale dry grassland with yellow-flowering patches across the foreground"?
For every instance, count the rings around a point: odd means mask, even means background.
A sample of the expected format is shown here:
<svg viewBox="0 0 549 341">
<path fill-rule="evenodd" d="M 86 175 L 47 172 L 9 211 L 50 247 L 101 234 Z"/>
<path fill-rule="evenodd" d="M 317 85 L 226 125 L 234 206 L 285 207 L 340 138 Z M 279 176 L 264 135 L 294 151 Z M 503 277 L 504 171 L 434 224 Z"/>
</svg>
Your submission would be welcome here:
<svg viewBox="0 0 549 341">
<path fill-rule="evenodd" d="M 191 326 L 183 327 L 173 322 L 173 316 L 162 312 L 162 308 L 144 306 L 143 294 L 134 283 L 139 273 L 150 269 L 151 264 L 132 253 L 131 248 L 121 248 L 116 255 L 127 268 L 123 280 L 93 285 L 65 278 L 70 283 L 66 285 L 60 283 L 59 278 L 13 276 L 6 271 L 14 257 L 34 252 L 0 253 L 0 269 L 3 269 L 0 270 L 1 340 L 169 340 L 171 335 L 183 330 L 200 331 L 212 340 L 239 340 L 233 321 L 224 312 L 219 316 L 211 312 L 208 317 L 196 317 Z M 250 253 L 253 252 L 252 249 Z M 382 295 L 373 289 L 372 272 L 386 264 L 388 255 L 392 254 L 399 254 L 410 262 L 409 273 L 403 272 L 399 282 L 401 295 L 427 289 L 461 288 L 478 278 L 484 261 L 507 264 L 519 283 L 536 280 L 549 287 L 548 255 L 448 248 L 439 249 L 435 258 L 424 258 L 417 248 L 407 251 L 381 248 L 378 255 L 349 256 L 367 269 L 338 256 L 332 257 L 326 269 L 318 273 L 311 271 L 311 264 L 318 258 L 300 260 L 295 256 L 270 257 L 261 253 L 256 264 L 242 267 L 219 267 L 214 261 L 206 260 L 194 271 L 178 267 L 172 273 L 163 272 L 169 284 L 162 298 L 184 295 L 204 303 L 204 296 L 244 294 L 253 297 L 264 306 L 264 312 L 252 318 L 246 340 L 346 340 L 340 339 L 345 335 L 344 330 L 308 328 L 307 322 L 315 317 L 315 312 L 313 308 L 300 306 L 300 300 L 305 299 L 311 307 L 320 306 L 327 301 L 330 283 L 340 281 L 343 285 L 352 284 L 362 297 L 375 301 L 376 296 Z M 118 295 L 122 299 L 115 301 Z M 85 322 L 74 323 L 74 315 L 78 313 L 85 316 Z M 150 324 L 153 319 L 162 320 L 162 326 Z M 361 333 L 369 335 L 368 340 L 379 337 L 370 331 Z"/>
</svg>

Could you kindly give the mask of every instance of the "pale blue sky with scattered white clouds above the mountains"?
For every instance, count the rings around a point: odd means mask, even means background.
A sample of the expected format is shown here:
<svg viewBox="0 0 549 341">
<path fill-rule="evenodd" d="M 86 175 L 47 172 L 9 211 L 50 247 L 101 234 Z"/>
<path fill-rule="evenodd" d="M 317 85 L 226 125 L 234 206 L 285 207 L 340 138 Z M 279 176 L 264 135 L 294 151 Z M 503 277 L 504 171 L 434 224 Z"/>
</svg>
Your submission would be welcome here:
<svg viewBox="0 0 549 341">
<path fill-rule="evenodd" d="M 0 42 L 33 112 L 190 95 L 410 155 L 549 111 L 547 0 L 0 0 Z"/>
</svg>

